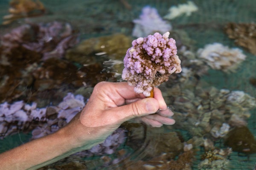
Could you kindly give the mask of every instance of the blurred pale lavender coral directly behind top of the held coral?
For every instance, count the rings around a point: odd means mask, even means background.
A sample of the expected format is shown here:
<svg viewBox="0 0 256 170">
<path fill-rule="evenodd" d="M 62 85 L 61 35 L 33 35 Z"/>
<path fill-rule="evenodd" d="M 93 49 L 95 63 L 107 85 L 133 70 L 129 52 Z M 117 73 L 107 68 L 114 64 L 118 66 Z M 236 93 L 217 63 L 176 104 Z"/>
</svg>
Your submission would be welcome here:
<svg viewBox="0 0 256 170">
<path fill-rule="evenodd" d="M 133 20 L 135 26 L 132 31 L 134 37 L 146 37 L 154 32 L 164 34 L 172 30 L 171 24 L 164 21 L 157 12 L 156 8 L 145 6 L 142 9 L 139 19 Z"/>
</svg>

